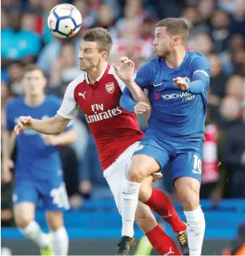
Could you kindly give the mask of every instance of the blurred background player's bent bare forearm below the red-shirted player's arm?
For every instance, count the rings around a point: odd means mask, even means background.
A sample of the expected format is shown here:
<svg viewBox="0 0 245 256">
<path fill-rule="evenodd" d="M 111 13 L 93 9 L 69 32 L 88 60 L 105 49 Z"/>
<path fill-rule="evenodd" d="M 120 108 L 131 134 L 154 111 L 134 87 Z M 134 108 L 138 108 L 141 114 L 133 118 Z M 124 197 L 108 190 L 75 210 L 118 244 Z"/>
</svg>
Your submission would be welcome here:
<svg viewBox="0 0 245 256">
<path fill-rule="evenodd" d="M 65 146 L 71 143 L 75 143 L 76 134 L 75 130 L 69 130 L 62 132 L 60 135 L 46 135 L 42 134 L 42 139 L 51 146 Z"/>
</svg>

